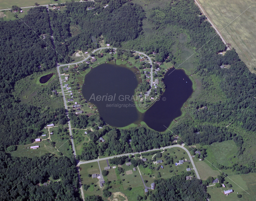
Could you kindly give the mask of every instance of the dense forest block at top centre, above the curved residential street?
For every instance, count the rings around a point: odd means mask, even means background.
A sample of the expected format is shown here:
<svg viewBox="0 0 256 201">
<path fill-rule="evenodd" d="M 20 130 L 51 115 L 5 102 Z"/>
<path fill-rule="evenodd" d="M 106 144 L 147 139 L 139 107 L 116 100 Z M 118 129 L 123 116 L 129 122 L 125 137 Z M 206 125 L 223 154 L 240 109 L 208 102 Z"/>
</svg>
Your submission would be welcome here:
<svg viewBox="0 0 256 201">
<path fill-rule="evenodd" d="M 125 3 L 126 0 L 112 0 L 106 8 L 104 5 L 96 4 L 94 9 L 88 10 L 88 7 L 93 6 L 93 2 L 74 2 L 67 4 L 65 13 L 50 12 L 56 51 L 69 61 L 68 56 L 75 50 L 86 51 L 88 48 L 99 47 L 99 41 L 97 44 L 92 42 L 92 36 L 98 38 L 103 35 L 105 42 L 115 47 L 120 46 L 121 42 L 138 37 L 142 30 L 141 20 L 144 18 L 144 11 L 139 5 Z M 69 33 L 70 25 L 78 25 L 81 33 L 72 37 Z M 64 62 L 61 56 L 58 56 L 58 60 Z"/>
</svg>

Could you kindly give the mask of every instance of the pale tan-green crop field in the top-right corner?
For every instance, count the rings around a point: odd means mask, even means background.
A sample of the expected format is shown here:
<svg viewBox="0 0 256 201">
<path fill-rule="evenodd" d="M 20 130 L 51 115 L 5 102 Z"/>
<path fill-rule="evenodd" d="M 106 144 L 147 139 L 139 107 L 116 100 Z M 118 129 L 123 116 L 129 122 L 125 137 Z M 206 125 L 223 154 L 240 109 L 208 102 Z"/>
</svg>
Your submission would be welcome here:
<svg viewBox="0 0 256 201">
<path fill-rule="evenodd" d="M 253 0 L 199 0 L 199 2 L 217 29 L 221 31 L 226 42 L 235 48 L 248 69 L 256 73 L 256 32 L 253 31 L 256 2 Z"/>
</svg>

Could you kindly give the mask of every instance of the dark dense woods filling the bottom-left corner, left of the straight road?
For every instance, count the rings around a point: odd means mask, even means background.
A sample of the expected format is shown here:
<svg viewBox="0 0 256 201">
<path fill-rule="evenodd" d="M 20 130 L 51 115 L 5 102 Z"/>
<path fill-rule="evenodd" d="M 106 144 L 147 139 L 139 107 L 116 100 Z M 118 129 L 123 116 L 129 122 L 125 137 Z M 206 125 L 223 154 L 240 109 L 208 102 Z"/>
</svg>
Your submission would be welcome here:
<svg viewBox="0 0 256 201">
<path fill-rule="evenodd" d="M 78 188 L 75 164 L 74 159 L 67 157 L 12 158 L 0 151 L 0 199 L 53 201 L 56 197 L 61 201 L 79 201 L 74 196 Z"/>
</svg>

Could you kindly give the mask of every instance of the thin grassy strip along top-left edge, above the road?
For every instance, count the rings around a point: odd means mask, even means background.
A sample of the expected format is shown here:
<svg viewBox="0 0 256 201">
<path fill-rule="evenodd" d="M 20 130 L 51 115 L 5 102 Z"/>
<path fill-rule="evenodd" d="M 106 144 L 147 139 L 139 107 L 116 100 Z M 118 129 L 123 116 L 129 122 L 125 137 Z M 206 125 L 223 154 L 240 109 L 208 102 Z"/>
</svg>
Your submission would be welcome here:
<svg viewBox="0 0 256 201">
<path fill-rule="evenodd" d="M 35 6 L 35 2 L 39 5 L 48 5 L 48 4 L 58 4 L 58 3 L 66 3 L 71 2 L 71 0 L 10 0 L 10 1 L 0 1 L 0 9 L 11 8 L 12 5 L 17 5 L 19 7 L 27 7 L 27 6 Z"/>
</svg>

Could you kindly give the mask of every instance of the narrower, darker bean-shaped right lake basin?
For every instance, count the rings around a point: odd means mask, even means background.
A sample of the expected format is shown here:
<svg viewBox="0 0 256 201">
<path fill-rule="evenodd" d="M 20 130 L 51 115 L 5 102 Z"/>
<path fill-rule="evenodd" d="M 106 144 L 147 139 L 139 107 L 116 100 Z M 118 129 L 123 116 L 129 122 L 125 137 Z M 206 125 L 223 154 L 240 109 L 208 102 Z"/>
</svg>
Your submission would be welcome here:
<svg viewBox="0 0 256 201">
<path fill-rule="evenodd" d="M 165 126 L 168 128 L 176 117 L 181 116 L 181 107 L 193 92 L 192 81 L 182 69 L 171 68 L 163 81 L 166 86 L 163 96 L 143 116 L 149 128 L 159 132 L 165 131 Z"/>
</svg>

